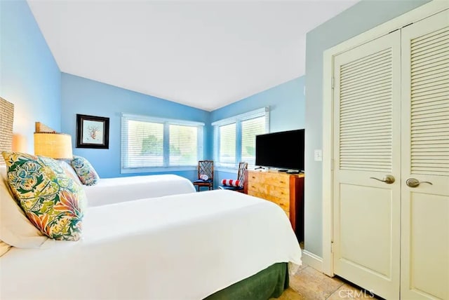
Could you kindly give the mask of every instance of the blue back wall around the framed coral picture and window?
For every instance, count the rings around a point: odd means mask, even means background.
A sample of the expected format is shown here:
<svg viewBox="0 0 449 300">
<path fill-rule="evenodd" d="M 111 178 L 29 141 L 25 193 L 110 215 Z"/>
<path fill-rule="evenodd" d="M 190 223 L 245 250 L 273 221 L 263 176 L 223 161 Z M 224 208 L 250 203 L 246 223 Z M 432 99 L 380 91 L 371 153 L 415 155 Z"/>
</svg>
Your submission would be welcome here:
<svg viewBox="0 0 449 300">
<path fill-rule="evenodd" d="M 160 98 L 143 95 L 105 83 L 84 79 L 62 73 L 62 132 L 72 135 L 73 152 L 91 161 L 100 177 L 126 176 L 120 173 L 121 153 L 121 113 L 174 118 L 206 123 L 204 128 L 204 149 L 208 149 L 210 132 L 210 113 L 201 109 L 187 107 Z M 76 145 L 76 114 L 102 116 L 109 118 L 109 149 L 81 149 Z M 207 157 L 206 157 L 207 158 Z M 158 172 L 171 173 L 196 179 L 197 173 L 191 171 Z M 145 175 L 149 173 L 127 174 Z M 156 174 L 152 172 L 151 174 Z"/>
</svg>

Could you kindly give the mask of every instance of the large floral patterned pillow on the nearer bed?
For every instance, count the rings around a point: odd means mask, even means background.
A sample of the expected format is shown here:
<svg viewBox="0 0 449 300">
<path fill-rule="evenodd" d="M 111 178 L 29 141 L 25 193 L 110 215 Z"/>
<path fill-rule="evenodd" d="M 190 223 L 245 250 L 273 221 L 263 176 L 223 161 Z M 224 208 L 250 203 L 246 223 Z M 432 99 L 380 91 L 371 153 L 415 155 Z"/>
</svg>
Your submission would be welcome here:
<svg viewBox="0 0 449 300">
<path fill-rule="evenodd" d="M 86 193 L 52 158 L 2 153 L 8 184 L 29 221 L 55 240 L 79 240 Z"/>
</svg>

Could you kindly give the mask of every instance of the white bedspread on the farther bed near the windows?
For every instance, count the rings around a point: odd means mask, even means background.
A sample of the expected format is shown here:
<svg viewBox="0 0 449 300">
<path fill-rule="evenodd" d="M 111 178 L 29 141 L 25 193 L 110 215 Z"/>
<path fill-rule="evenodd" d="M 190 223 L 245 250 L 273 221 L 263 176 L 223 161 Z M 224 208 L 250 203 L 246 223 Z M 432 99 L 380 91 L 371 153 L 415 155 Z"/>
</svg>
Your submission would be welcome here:
<svg viewBox="0 0 449 300">
<path fill-rule="evenodd" d="M 196 191 L 192 182 L 177 175 L 102 178 L 95 186 L 84 186 L 84 188 L 89 206 Z"/>
</svg>

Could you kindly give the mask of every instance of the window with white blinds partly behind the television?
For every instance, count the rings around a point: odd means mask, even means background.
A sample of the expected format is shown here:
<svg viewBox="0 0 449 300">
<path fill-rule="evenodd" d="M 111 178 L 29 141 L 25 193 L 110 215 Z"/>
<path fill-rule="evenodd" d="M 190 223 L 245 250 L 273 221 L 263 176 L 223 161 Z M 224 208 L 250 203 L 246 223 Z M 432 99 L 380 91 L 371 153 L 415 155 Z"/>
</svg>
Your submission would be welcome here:
<svg viewBox="0 0 449 300">
<path fill-rule="evenodd" d="M 213 122 L 215 164 L 236 168 L 241 161 L 255 163 L 255 136 L 269 132 L 269 108 Z"/>
</svg>

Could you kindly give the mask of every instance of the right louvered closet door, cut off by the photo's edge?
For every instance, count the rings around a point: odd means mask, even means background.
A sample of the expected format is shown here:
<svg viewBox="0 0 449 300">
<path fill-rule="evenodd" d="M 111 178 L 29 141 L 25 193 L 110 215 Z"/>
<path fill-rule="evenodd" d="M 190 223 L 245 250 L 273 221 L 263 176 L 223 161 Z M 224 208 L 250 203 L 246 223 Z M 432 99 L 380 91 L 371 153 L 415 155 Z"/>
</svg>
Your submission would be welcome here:
<svg viewBox="0 0 449 300">
<path fill-rule="evenodd" d="M 401 299 L 449 299 L 449 11 L 401 35 Z"/>
</svg>

